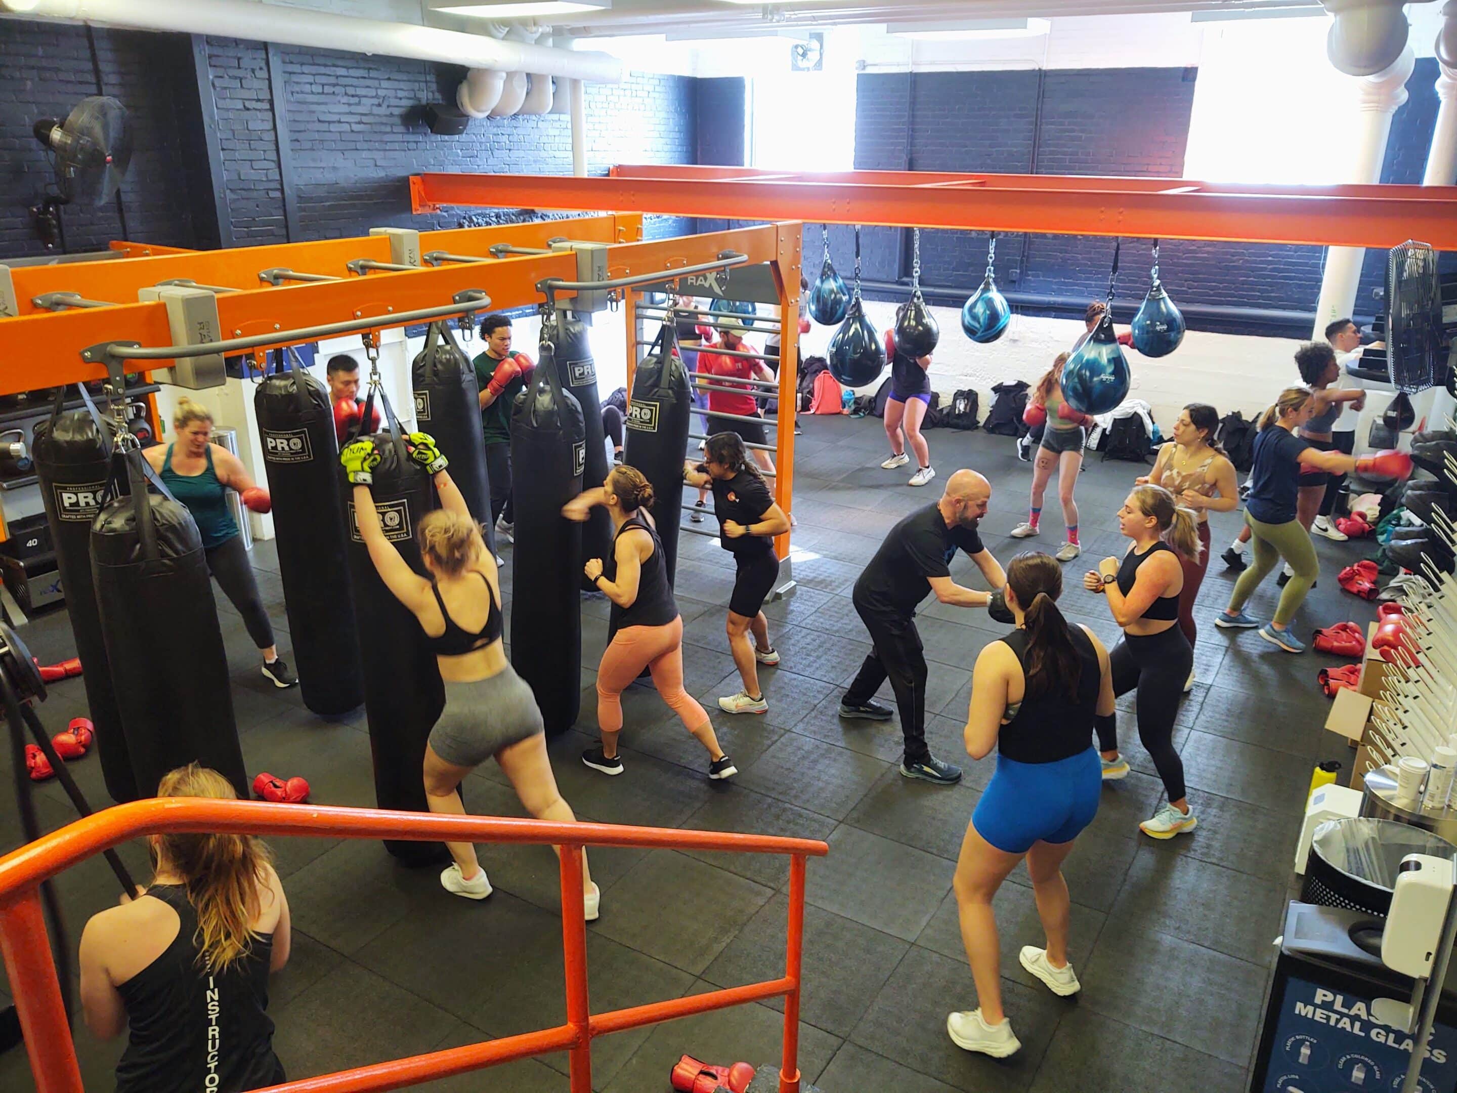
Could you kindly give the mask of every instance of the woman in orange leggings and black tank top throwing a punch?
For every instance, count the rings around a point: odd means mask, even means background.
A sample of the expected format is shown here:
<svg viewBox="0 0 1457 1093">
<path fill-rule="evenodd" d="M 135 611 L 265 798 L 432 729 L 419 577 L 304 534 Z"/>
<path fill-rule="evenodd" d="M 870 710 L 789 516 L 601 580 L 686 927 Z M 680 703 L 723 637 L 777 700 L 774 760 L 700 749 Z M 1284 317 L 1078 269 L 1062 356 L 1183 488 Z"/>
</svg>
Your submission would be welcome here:
<svg viewBox="0 0 1457 1093">
<path fill-rule="evenodd" d="M 731 778 L 739 769 L 718 746 L 708 713 L 683 689 L 683 616 L 678 614 L 673 589 L 667 583 L 663 544 L 647 512 L 653 504 L 653 487 L 637 468 L 619 463 L 600 487 L 568 501 L 562 514 L 586 520 L 599 504 L 612 514 L 612 558 L 606 564 L 602 558 L 592 558 L 583 568 L 587 580 L 612 600 L 613 637 L 597 666 L 602 743 L 583 752 L 581 761 L 603 774 L 622 774 L 622 758 L 618 755 L 622 691 L 645 667 L 653 673 L 653 685 L 663 701 L 708 749 L 708 777 Z"/>
</svg>

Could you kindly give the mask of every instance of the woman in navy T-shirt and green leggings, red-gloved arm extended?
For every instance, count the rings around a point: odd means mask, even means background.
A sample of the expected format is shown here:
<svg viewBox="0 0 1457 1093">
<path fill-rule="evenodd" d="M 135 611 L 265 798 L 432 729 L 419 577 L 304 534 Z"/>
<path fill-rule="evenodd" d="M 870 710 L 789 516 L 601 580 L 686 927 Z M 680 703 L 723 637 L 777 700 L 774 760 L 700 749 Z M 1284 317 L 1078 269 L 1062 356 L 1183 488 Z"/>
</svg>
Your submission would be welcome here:
<svg viewBox="0 0 1457 1093">
<path fill-rule="evenodd" d="M 1250 471 L 1250 495 L 1244 503 L 1244 520 L 1254 539 L 1254 564 L 1240 574 L 1230 596 L 1230 606 L 1214 625 L 1225 630 L 1259 627 L 1260 637 L 1287 653 L 1304 653 L 1305 644 L 1291 632 L 1305 593 L 1316 581 L 1319 564 L 1310 533 L 1295 519 L 1300 495 L 1300 475 L 1304 468 L 1330 474 L 1359 471 L 1374 478 L 1405 478 L 1412 472 L 1410 456 L 1402 452 L 1378 452 L 1354 459 L 1340 452 L 1321 452 L 1295 436 L 1295 430 L 1317 410 L 1310 388 L 1285 388 L 1275 405 L 1265 411 L 1254 437 L 1254 466 Z M 1284 558 L 1295 576 L 1281 592 L 1275 618 L 1260 627 L 1259 619 L 1244 612 L 1254 589 Z"/>
</svg>

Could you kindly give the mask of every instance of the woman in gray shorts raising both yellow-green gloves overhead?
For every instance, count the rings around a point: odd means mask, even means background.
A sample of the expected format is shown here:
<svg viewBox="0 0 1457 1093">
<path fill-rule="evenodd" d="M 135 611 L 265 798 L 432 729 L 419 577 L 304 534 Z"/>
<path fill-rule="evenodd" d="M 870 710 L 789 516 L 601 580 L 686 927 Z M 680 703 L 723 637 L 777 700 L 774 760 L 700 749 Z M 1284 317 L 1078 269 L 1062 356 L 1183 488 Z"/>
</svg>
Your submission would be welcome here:
<svg viewBox="0 0 1457 1093">
<path fill-rule="evenodd" d="M 495 558 L 485 548 L 481 526 L 465 497 L 446 474 L 446 458 L 424 433 L 408 437 L 411 456 L 434 475 L 441 509 L 427 513 L 415 529 L 420 557 L 430 573 L 421 577 L 385 538 L 370 494 L 370 471 L 379 463 L 372 440 L 356 440 L 339 453 L 354 484 L 354 513 L 360 535 L 380 580 L 420 621 L 446 685 L 446 705 L 425 745 L 425 802 L 431 812 L 465 815 L 456 787 L 476 767 L 494 758 L 526 810 L 538 819 L 576 820 L 557 790 L 546 758 L 542 714 L 530 686 L 516 675 L 501 644 L 501 584 Z M 440 874 L 447 892 L 485 899 L 491 882 L 469 842 L 447 842 L 455 864 Z M 600 892 L 583 858 L 587 921 L 597 917 Z"/>
</svg>

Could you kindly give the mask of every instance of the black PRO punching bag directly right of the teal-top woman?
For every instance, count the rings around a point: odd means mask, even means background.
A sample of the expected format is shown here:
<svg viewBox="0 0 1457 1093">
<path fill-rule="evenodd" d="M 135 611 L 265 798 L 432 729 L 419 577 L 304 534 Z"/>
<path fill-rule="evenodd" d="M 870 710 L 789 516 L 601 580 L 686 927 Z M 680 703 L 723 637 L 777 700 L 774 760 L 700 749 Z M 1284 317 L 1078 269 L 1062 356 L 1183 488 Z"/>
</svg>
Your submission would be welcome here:
<svg viewBox="0 0 1457 1093">
<path fill-rule="evenodd" d="M 364 701 L 364 676 L 353 634 L 354 600 L 344 563 L 344 520 L 329 395 L 297 354 L 274 354 L 274 372 L 254 395 L 264 466 L 278 532 L 288 637 L 303 704 L 316 714 L 344 714 Z"/>
</svg>

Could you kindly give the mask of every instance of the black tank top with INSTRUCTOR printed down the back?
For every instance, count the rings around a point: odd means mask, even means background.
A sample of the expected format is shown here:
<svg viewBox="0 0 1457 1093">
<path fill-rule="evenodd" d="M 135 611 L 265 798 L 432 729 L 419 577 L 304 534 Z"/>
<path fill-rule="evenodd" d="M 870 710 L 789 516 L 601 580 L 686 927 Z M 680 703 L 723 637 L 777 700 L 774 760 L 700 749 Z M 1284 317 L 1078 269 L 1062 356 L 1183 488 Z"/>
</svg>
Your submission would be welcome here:
<svg viewBox="0 0 1457 1093">
<path fill-rule="evenodd" d="M 181 885 L 153 885 L 182 920 L 156 960 L 117 991 L 131 1035 L 117 1064 L 117 1093 L 237 1093 L 284 1081 L 272 1049 L 268 962 L 272 934 L 255 934 L 252 950 L 226 972 L 198 962 L 197 911 Z"/>
</svg>

